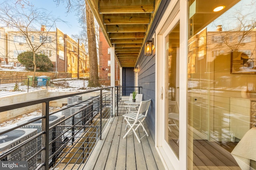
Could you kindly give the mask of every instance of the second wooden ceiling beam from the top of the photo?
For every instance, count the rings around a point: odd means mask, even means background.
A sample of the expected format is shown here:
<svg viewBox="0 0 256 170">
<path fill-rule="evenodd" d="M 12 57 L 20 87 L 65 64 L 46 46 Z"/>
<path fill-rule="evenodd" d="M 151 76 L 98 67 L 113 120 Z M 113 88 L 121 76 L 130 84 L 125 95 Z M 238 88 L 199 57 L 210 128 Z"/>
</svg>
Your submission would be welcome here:
<svg viewBox="0 0 256 170">
<path fill-rule="evenodd" d="M 104 14 L 104 24 L 148 24 L 150 22 L 150 14 Z"/>
</svg>

